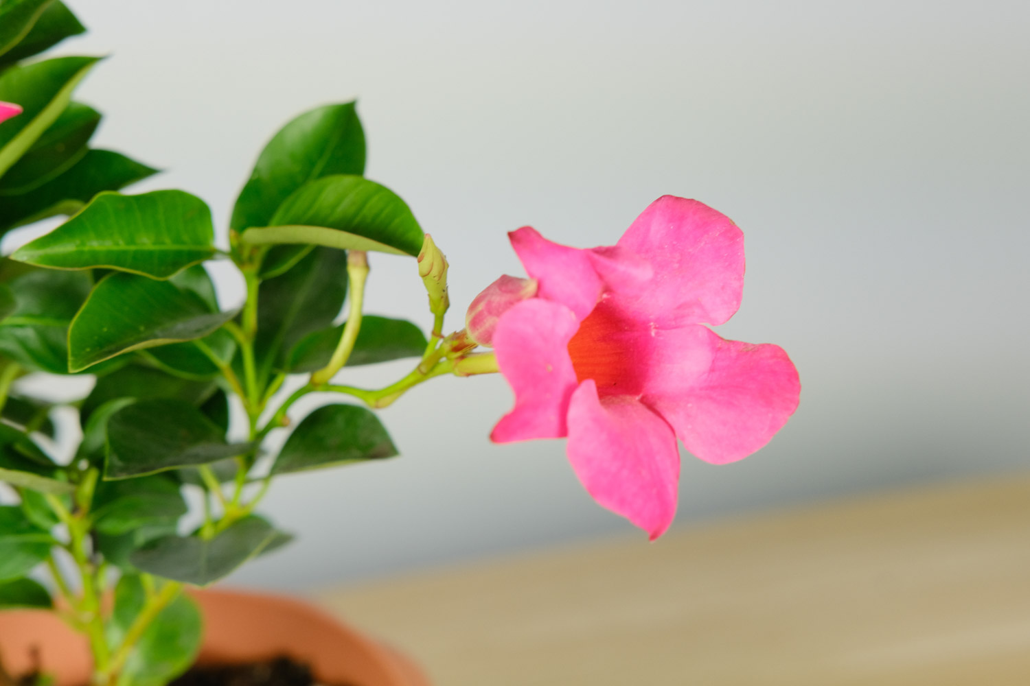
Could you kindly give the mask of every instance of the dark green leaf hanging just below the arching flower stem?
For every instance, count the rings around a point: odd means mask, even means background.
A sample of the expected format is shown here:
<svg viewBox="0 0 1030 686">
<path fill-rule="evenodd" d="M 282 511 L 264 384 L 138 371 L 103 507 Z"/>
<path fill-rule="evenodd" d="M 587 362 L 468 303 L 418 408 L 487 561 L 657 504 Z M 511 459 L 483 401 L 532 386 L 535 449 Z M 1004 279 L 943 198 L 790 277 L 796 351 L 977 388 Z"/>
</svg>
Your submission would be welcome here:
<svg viewBox="0 0 1030 686">
<path fill-rule="evenodd" d="M 357 405 L 324 405 L 286 439 L 272 474 L 392 458 L 397 447 L 379 418 Z"/>
</svg>

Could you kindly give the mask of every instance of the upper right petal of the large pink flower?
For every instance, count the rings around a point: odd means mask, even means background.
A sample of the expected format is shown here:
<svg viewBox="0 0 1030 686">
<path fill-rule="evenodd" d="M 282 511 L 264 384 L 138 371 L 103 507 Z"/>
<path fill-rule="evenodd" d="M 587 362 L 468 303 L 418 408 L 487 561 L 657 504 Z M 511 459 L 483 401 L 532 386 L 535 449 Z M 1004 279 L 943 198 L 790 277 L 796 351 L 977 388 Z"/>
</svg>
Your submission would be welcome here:
<svg viewBox="0 0 1030 686">
<path fill-rule="evenodd" d="M 651 262 L 655 277 L 642 296 L 616 294 L 638 321 L 660 327 L 722 324 L 741 306 L 744 234 L 725 215 L 663 195 L 619 239 Z"/>
</svg>

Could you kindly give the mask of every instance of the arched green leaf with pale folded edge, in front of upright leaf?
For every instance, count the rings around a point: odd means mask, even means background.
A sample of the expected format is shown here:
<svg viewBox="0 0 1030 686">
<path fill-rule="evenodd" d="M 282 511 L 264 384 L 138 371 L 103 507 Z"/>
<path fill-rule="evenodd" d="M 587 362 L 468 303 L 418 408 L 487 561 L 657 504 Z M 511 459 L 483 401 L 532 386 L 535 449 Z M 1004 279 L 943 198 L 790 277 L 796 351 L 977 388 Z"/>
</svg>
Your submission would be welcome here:
<svg viewBox="0 0 1030 686">
<path fill-rule="evenodd" d="M 328 176 L 287 197 L 267 227 L 248 228 L 250 245 L 316 244 L 417 256 L 425 234 L 385 186 L 360 176 Z"/>
</svg>

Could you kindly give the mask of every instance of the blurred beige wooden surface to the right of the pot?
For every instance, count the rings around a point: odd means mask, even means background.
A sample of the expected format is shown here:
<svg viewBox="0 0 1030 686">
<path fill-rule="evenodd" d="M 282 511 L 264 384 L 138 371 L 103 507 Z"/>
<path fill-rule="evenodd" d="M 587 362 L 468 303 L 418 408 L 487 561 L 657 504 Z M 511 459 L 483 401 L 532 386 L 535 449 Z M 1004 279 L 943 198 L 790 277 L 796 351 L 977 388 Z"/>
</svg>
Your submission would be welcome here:
<svg viewBox="0 0 1030 686">
<path fill-rule="evenodd" d="M 333 589 L 437 686 L 1030 684 L 1030 477 Z"/>
</svg>

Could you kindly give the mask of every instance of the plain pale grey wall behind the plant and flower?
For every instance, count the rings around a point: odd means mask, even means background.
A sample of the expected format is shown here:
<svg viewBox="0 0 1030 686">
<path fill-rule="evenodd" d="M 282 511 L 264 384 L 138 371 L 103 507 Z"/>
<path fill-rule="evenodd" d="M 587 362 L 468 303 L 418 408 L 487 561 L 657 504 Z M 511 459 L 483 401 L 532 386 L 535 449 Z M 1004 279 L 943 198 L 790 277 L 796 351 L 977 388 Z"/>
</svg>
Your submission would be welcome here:
<svg viewBox="0 0 1030 686">
<path fill-rule="evenodd" d="M 452 328 L 481 288 L 522 276 L 506 231 L 610 245 L 664 193 L 729 215 L 748 274 L 718 332 L 785 348 L 801 405 L 741 463 L 684 454 L 678 527 L 1028 465 L 1030 4 L 69 5 L 90 33 L 57 53 L 111 56 L 77 94 L 105 114 L 98 145 L 167 170 L 131 192 L 205 198 L 222 245 L 268 138 L 358 99 L 367 175 L 450 260 Z M 428 328 L 414 263 L 372 267 L 368 311 Z M 213 273 L 238 302 L 231 267 Z M 583 492 L 563 441 L 488 441 L 511 399 L 499 376 L 411 392 L 382 414 L 403 457 L 281 478 L 263 509 L 298 541 L 235 581 L 299 589 L 615 533 L 643 543 Z"/>
</svg>

